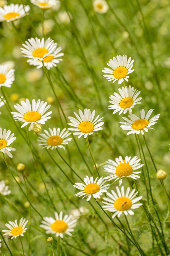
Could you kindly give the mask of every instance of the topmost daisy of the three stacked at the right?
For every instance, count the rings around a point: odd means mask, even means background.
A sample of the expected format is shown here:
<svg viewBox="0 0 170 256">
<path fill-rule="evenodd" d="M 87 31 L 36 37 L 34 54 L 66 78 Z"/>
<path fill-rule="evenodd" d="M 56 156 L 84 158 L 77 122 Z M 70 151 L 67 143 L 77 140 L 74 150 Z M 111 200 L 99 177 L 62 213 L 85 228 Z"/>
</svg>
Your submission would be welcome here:
<svg viewBox="0 0 170 256">
<path fill-rule="evenodd" d="M 113 80 L 113 83 L 118 80 L 118 84 L 121 84 L 124 80 L 128 81 L 128 74 L 132 73 L 134 59 L 131 61 L 131 57 L 127 60 L 126 55 L 117 55 L 116 58 L 110 59 L 107 66 L 110 68 L 104 68 L 102 72 L 108 73 L 109 75 L 103 75 L 109 81 Z"/>
</svg>

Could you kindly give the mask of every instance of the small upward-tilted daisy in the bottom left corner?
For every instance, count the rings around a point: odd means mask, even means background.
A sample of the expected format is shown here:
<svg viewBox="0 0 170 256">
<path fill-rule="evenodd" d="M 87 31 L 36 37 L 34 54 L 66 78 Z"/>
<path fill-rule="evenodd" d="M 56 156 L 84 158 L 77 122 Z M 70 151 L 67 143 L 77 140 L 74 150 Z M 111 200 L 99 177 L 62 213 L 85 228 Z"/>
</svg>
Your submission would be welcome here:
<svg viewBox="0 0 170 256">
<path fill-rule="evenodd" d="M 5 226 L 8 229 L 3 229 L 2 232 L 4 232 L 3 235 L 9 235 L 11 239 L 17 238 L 19 236 L 23 237 L 23 233 L 26 232 L 27 228 L 26 225 L 28 223 L 28 220 L 21 218 L 19 221 L 19 225 L 17 224 L 17 220 L 15 221 L 9 221 L 10 224 L 6 223 Z"/>
</svg>

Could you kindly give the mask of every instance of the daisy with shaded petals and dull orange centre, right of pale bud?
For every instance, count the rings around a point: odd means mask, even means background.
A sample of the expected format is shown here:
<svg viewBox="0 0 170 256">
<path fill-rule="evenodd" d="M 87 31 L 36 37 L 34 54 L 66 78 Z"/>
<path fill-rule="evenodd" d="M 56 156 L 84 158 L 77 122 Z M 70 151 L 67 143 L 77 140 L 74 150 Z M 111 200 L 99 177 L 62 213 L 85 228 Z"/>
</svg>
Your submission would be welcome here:
<svg viewBox="0 0 170 256">
<path fill-rule="evenodd" d="M 41 144 L 39 144 L 38 146 L 42 145 L 44 146 L 43 148 L 63 148 L 65 149 L 65 147 L 63 145 L 68 144 L 72 138 L 67 138 L 71 133 L 69 133 L 69 131 L 66 131 L 66 128 L 64 128 L 61 132 L 60 132 L 60 128 L 49 128 L 49 131 L 44 130 L 44 133 L 41 133 L 40 136 L 38 137 L 38 141 L 41 142 Z"/>
</svg>

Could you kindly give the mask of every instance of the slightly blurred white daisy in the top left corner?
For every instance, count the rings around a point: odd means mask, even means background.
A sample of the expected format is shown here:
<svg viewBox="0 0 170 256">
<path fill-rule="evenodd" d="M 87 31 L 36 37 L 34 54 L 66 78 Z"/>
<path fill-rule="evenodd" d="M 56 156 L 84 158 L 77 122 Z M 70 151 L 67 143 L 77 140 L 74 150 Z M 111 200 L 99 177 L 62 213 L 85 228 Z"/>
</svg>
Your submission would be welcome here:
<svg viewBox="0 0 170 256">
<path fill-rule="evenodd" d="M 4 5 L 3 8 L 0 7 L 0 22 L 2 21 L 13 22 L 13 21 L 16 21 L 17 19 L 20 19 L 26 16 L 26 13 L 30 11 L 30 6 L 24 5 L 24 9 L 23 9 L 23 5 L 22 4 L 19 5 L 18 3 L 17 4 L 11 3 L 10 5 Z"/>
</svg>

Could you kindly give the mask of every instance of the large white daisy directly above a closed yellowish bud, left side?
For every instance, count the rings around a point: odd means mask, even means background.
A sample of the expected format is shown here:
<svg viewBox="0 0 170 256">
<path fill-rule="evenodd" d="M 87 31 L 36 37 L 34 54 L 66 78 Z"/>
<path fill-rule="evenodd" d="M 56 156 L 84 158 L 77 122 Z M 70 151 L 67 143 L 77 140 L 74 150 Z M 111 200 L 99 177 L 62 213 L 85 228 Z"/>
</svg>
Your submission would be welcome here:
<svg viewBox="0 0 170 256">
<path fill-rule="evenodd" d="M 21 128 L 26 126 L 27 124 L 30 124 L 29 131 L 32 130 L 32 126 L 34 123 L 40 123 L 45 124 L 49 117 L 49 115 L 52 113 L 52 111 L 47 112 L 44 114 L 51 105 L 47 105 L 47 102 L 44 103 L 44 101 L 41 101 L 40 99 L 35 101 L 35 99 L 32 100 L 32 104 L 30 103 L 29 99 L 26 99 L 26 102 L 21 101 L 21 105 L 18 103 L 14 105 L 14 108 L 18 112 L 11 112 L 13 114 L 14 120 L 21 121 L 23 124 L 21 125 Z"/>
</svg>

